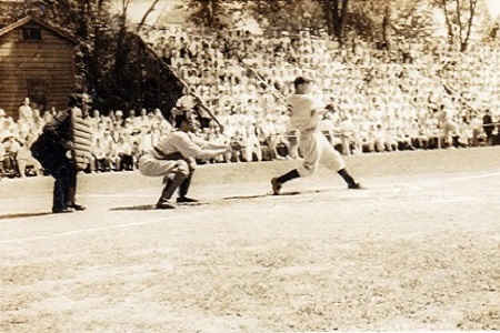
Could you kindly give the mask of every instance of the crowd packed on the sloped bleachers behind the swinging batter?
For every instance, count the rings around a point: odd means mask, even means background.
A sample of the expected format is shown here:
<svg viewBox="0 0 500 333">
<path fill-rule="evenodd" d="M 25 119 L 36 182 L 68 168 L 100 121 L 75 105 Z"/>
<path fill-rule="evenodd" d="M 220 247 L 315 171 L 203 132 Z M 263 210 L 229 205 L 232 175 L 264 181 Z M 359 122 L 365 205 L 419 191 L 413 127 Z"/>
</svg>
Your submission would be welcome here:
<svg viewBox="0 0 500 333">
<path fill-rule="evenodd" d="M 283 97 L 306 74 L 316 79 L 324 104 L 333 105 L 323 124 L 344 134 L 332 140 L 344 153 L 493 143 L 482 128 L 487 111 L 500 117 L 500 51 L 492 43 L 460 52 L 444 40 L 401 40 L 386 49 L 359 38 L 340 44 L 308 30 L 200 34 L 179 26 L 142 36 L 229 135 L 290 137 Z"/>
</svg>

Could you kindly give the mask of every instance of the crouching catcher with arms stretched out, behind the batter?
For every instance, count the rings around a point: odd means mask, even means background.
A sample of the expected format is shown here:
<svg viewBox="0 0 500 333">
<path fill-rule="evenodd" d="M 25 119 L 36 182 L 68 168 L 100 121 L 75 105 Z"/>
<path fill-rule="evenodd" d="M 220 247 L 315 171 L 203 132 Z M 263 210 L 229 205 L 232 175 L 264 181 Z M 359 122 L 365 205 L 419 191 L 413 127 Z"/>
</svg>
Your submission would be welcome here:
<svg viewBox="0 0 500 333">
<path fill-rule="evenodd" d="M 164 188 L 157 209 L 174 209 L 170 202 L 179 189 L 177 202 L 197 202 L 186 196 L 191 184 L 196 159 L 212 159 L 226 153 L 227 144 L 214 144 L 192 134 L 193 123 L 189 114 L 176 119 L 177 130 L 164 137 L 139 160 L 139 172 L 146 176 L 162 176 Z"/>
</svg>

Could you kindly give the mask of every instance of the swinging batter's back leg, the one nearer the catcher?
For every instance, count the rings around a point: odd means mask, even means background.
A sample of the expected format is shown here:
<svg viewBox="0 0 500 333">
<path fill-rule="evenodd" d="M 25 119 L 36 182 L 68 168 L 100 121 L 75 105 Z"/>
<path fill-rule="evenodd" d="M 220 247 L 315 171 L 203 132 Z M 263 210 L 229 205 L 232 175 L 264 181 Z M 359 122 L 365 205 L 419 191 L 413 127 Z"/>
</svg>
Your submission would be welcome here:
<svg viewBox="0 0 500 333">
<path fill-rule="evenodd" d="M 321 157 L 321 148 L 317 143 L 317 138 L 313 134 L 301 135 L 299 149 L 303 157 L 302 164 L 299 165 L 299 168 L 293 169 L 278 178 L 271 179 L 272 193 L 274 195 L 281 194 L 281 186 L 286 182 L 299 176 L 311 175 L 314 173 L 316 169 L 318 169 L 319 160 Z"/>
</svg>

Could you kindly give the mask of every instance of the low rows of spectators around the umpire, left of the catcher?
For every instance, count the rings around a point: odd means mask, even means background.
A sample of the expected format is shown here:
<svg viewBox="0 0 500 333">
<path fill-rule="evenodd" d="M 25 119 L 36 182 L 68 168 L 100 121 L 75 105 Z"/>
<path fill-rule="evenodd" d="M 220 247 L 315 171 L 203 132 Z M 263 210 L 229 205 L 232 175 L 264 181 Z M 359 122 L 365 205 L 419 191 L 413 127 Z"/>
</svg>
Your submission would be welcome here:
<svg viewBox="0 0 500 333">
<path fill-rule="evenodd" d="M 28 110 L 28 117 L 22 115 L 21 109 Z M 109 110 L 106 115 L 91 110 L 86 114 L 93 133 L 92 161 L 86 170 L 89 173 L 136 170 L 140 155 L 172 130 L 159 109 L 149 112 L 142 109 L 138 115 L 134 110 L 129 110 L 127 117 L 121 110 Z M 20 107 L 17 121 L 7 118 L 0 109 L 0 175 L 24 178 L 44 173 L 31 155 L 30 147 L 54 115 L 54 109 L 40 115 L 38 110 L 29 107 L 29 100 Z"/>
</svg>

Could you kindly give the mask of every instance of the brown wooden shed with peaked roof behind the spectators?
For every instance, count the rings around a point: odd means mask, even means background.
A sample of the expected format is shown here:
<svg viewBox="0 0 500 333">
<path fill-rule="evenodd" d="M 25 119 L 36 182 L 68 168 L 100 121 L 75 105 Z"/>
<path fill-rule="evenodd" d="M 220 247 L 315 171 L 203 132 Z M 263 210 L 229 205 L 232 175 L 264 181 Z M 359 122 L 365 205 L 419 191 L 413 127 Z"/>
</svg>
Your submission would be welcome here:
<svg viewBox="0 0 500 333">
<path fill-rule="evenodd" d="M 0 109 L 17 120 L 27 97 L 41 114 L 52 107 L 66 108 L 68 94 L 77 88 L 76 44 L 31 17 L 0 29 Z"/>
</svg>

